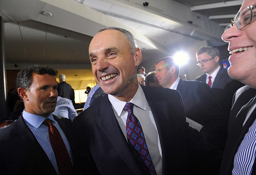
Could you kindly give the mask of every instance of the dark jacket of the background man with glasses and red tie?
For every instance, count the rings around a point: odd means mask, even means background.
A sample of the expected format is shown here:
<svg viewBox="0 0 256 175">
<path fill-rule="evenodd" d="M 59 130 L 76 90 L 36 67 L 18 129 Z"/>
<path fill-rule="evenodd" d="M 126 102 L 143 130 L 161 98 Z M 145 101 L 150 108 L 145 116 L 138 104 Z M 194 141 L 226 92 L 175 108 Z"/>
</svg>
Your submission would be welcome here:
<svg viewBox="0 0 256 175">
<path fill-rule="evenodd" d="M 206 82 L 206 74 L 196 78 L 196 81 Z M 216 101 L 222 106 L 226 116 L 229 116 L 232 99 L 236 90 L 244 86 L 240 81 L 232 79 L 222 67 L 218 71 L 212 85 L 212 92 Z"/>
</svg>

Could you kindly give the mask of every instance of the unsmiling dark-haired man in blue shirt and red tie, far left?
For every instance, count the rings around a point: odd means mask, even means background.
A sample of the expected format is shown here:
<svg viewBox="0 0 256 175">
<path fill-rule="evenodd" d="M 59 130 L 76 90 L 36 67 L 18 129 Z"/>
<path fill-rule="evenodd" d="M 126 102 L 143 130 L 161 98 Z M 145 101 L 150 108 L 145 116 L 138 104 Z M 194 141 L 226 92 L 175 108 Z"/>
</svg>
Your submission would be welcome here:
<svg viewBox="0 0 256 175">
<path fill-rule="evenodd" d="M 58 96 L 56 74 L 54 69 L 39 65 L 18 73 L 16 87 L 25 110 L 0 132 L 0 174 L 72 173 L 71 123 L 52 115 Z"/>
</svg>

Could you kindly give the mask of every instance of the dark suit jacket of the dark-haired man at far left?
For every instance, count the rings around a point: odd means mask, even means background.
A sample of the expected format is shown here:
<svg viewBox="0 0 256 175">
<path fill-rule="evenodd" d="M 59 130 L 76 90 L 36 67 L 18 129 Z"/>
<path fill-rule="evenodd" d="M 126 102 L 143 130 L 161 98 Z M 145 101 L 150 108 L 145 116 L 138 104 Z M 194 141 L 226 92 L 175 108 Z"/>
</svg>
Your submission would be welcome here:
<svg viewBox="0 0 256 175">
<path fill-rule="evenodd" d="M 70 121 L 54 118 L 71 143 Z M 1 175 L 57 174 L 22 115 L 0 132 L 0 167 Z"/>
</svg>

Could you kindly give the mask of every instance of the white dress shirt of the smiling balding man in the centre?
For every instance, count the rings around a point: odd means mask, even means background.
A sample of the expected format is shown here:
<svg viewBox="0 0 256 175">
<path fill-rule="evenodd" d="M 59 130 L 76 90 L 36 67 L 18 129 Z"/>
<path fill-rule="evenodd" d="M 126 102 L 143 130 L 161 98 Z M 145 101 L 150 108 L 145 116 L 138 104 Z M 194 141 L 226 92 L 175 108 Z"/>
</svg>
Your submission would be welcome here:
<svg viewBox="0 0 256 175">
<path fill-rule="evenodd" d="M 126 118 L 128 116 L 128 112 L 124 110 L 124 106 L 126 102 L 120 101 L 110 94 L 108 94 L 108 99 L 112 104 L 112 108 L 114 110 L 116 119 L 127 140 Z M 148 105 L 145 94 L 142 88 L 140 87 L 140 85 L 139 85 L 138 91 L 136 92 L 132 100 L 130 100 L 130 102 L 134 104 L 133 112 L 134 112 L 134 115 L 140 121 L 140 124 L 142 126 L 146 144 L 148 146 L 150 157 L 156 169 L 156 173 L 158 175 L 162 175 L 162 149 L 160 145 L 158 130 L 156 127 L 154 116 L 151 112 L 151 109 Z"/>
</svg>

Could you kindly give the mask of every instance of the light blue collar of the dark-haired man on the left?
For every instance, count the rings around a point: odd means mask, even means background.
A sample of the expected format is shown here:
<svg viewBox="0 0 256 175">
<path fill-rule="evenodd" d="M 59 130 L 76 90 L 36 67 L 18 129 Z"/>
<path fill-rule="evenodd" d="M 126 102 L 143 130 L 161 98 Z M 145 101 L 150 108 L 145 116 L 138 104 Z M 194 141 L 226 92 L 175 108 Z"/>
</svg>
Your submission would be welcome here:
<svg viewBox="0 0 256 175">
<path fill-rule="evenodd" d="M 44 120 L 46 118 L 42 117 L 42 116 L 38 116 L 36 114 L 31 114 L 29 112 L 26 112 L 25 110 L 23 110 L 23 114 L 22 114 L 24 120 L 26 120 L 29 124 L 31 124 L 32 126 L 34 126 L 34 128 L 39 128 L 39 126 L 44 122 Z M 52 120 L 53 122 L 55 122 L 52 113 L 50 113 L 50 115 L 47 117 L 50 120 Z"/>
</svg>

